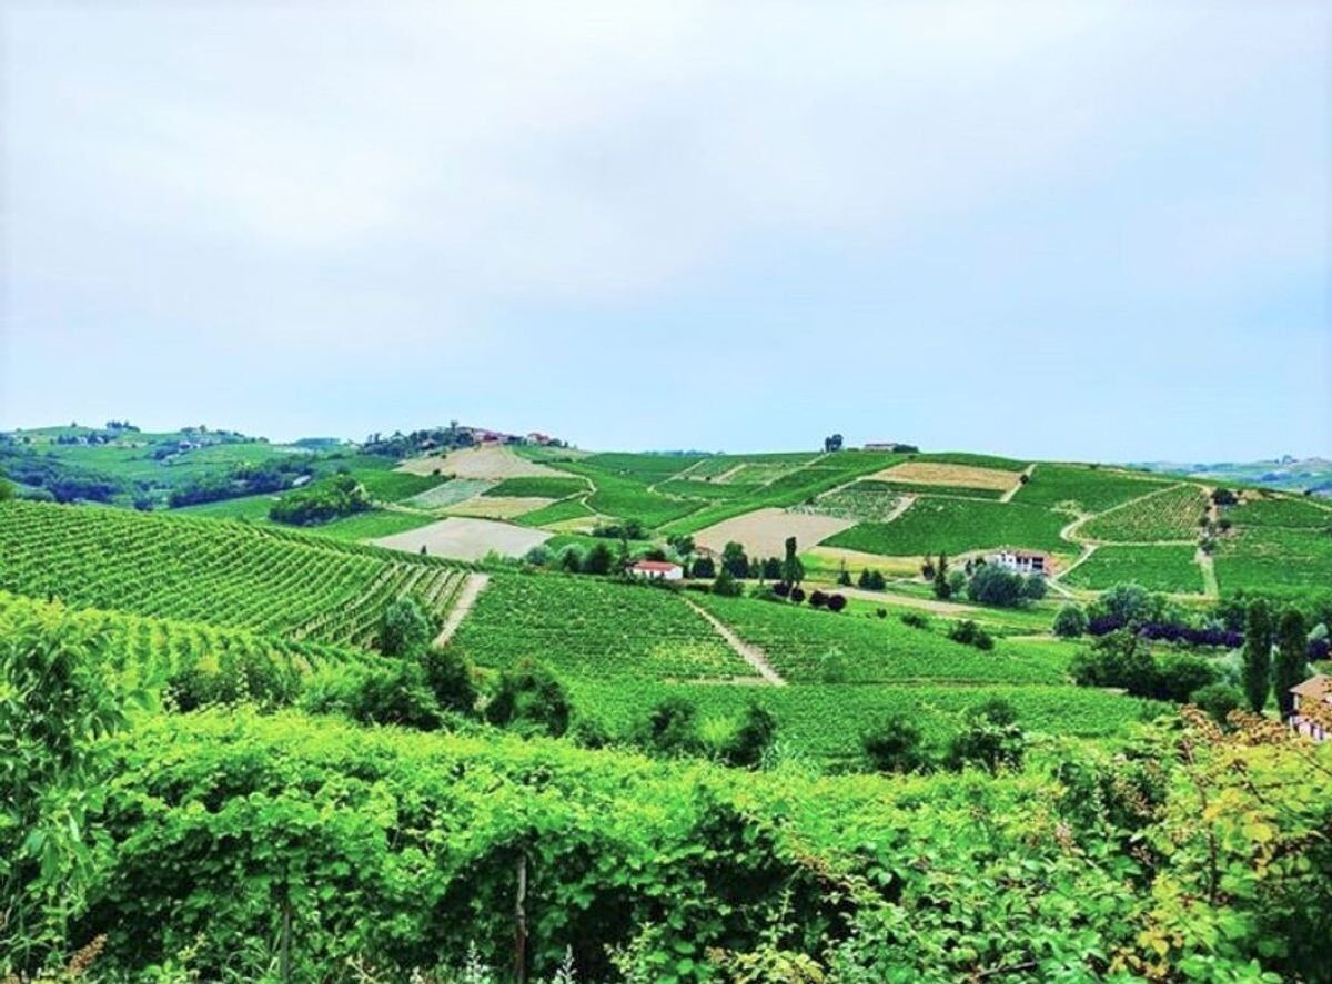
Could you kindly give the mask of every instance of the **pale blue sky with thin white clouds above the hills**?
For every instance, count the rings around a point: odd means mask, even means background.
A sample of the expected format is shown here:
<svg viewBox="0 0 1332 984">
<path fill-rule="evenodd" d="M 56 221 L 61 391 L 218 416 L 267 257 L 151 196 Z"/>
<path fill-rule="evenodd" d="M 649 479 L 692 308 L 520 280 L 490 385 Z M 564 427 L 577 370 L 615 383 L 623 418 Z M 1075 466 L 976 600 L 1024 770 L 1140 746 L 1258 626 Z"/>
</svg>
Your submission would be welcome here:
<svg viewBox="0 0 1332 984">
<path fill-rule="evenodd" d="M 0 427 L 1332 457 L 1324 3 L 0 0 Z"/>
</svg>

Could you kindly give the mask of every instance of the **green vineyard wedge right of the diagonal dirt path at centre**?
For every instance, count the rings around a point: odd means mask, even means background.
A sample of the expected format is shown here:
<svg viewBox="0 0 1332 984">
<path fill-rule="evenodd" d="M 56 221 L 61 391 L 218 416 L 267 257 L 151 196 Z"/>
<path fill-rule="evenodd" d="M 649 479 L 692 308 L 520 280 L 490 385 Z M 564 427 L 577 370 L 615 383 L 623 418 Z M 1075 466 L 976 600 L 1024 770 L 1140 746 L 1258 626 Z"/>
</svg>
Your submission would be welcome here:
<svg viewBox="0 0 1332 984">
<path fill-rule="evenodd" d="M 1010 655 L 1000 642 L 986 652 L 894 618 L 832 614 L 794 605 L 715 598 L 699 603 L 742 639 L 762 648 L 791 683 L 829 682 L 830 654 L 847 683 L 1062 683 L 1062 651 Z"/>
</svg>

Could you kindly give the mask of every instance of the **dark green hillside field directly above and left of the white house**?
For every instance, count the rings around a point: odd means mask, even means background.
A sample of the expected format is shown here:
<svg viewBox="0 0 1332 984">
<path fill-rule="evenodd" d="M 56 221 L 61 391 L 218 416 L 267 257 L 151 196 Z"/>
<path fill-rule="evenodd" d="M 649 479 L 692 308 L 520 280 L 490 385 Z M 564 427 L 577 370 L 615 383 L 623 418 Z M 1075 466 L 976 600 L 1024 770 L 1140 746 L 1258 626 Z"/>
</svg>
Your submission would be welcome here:
<svg viewBox="0 0 1332 984">
<path fill-rule="evenodd" d="M 860 523 L 825 543 L 888 557 L 998 547 L 1068 551 L 1071 545 L 1059 535 L 1066 522 L 1066 517 L 1016 502 L 920 497 L 891 523 Z"/>
</svg>

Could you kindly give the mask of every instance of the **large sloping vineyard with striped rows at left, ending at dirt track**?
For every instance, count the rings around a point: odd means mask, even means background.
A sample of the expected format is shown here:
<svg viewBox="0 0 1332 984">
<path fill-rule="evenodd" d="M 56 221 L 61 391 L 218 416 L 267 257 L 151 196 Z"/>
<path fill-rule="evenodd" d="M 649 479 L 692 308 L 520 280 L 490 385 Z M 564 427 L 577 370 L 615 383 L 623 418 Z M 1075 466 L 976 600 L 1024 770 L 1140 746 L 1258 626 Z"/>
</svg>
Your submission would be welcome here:
<svg viewBox="0 0 1332 984">
<path fill-rule="evenodd" d="M 442 615 L 461 571 L 244 523 L 0 503 L 0 590 L 68 605 L 366 644 L 413 595 Z"/>
</svg>

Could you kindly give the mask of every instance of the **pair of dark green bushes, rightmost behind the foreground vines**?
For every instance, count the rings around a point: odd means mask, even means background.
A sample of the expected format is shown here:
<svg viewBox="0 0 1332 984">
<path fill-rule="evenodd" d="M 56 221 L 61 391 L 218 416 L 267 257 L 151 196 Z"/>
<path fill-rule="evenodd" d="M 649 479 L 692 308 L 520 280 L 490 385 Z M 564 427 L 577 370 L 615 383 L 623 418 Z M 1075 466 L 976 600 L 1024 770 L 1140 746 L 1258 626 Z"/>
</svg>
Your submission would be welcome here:
<svg viewBox="0 0 1332 984">
<path fill-rule="evenodd" d="M 860 736 L 870 767 L 878 772 L 931 772 L 968 766 L 998 772 L 1020 768 L 1027 736 L 1018 711 L 1003 699 L 987 700 L 963 715 L 962 728 L 943 748 L 931 748 L 911 719 L 886 718 Z"/>
</svg>

